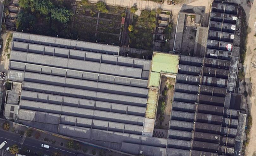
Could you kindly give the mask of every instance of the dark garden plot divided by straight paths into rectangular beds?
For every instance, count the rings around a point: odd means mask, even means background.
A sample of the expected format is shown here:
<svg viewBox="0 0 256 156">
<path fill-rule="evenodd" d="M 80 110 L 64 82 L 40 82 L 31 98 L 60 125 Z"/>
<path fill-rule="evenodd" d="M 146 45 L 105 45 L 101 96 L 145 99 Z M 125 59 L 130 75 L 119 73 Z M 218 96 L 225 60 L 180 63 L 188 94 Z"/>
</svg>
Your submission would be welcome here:
<svg viewBox="0 0 256 156">
<path fill-rule="evenodd" d="M 77 4 L 73 8 L 72 28 L 76 29 L 81 40 L 119 46 L 122 39 L 122 13 L 125 8 L 108 6 L 107 12 L 95 11 L 94 5 Z"/>
</svg>

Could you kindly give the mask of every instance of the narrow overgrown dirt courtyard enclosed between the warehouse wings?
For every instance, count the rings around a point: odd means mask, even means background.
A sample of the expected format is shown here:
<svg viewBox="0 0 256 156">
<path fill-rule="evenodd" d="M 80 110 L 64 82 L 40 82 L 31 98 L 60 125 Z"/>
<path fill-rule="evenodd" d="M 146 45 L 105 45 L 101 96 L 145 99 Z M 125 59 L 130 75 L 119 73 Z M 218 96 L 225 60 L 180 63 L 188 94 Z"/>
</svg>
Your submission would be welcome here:
<svg viewBox="0 0 256 156">
<path fill-rule="evenodd" d="M 166 103 L 166 108 L 164 110 L 164 120 L 160 123 L 159 119 L 157 120 L 157 126 L 160 126 L 161 129 L 169 129 L 169 121 L 171 116 L 171 107 L 172 107 L 172 97 L 174 93 L 174 84 L 175 79 L 173 78 L 167 78 L 166 76 L 162 76 L 161 78 L 161 84 L 160 84 L 160 94 L 159 99 L 163 99 L 163 101 Z M 172 88 L 168 89 L 168 86 L 172 85 Z M 164 96 L 164 90 L 167 90 L 166 95 Z M 160 101 L 160 100 L 159 100 Z M 159 102 L 158 102 L 159 105 Z"/>
</svg>

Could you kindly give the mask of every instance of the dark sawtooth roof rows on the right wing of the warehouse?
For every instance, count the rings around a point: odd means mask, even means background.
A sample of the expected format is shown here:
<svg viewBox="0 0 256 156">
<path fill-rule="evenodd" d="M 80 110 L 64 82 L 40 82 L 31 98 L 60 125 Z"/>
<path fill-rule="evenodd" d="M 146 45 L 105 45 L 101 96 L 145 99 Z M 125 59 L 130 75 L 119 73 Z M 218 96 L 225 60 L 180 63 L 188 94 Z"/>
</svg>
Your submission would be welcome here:
<svg viewBox="0 0 256 156">
<path fill-rule="evenodd" d="M 246 115 L 240 113 L 241 95 L 232 93 L 239 62 L 239 48 L 233 47 L 238 9 L 214 1 L 205 58 L 180 58 L 168 156 L 241 154 Z"/>
</svg>

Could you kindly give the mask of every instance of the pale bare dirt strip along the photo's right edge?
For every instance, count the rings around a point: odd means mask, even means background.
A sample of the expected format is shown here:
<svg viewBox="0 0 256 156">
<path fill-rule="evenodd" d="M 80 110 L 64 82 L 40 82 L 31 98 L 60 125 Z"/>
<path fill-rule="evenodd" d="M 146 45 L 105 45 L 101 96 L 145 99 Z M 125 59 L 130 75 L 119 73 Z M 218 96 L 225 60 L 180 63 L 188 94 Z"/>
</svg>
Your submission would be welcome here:
<svg viewBox="0 0 256 156">
<path fill-rule="evenodd" d="M 243 0 L 241 0 L 243 1 Z M 252 0 L 251 0 L 252 1 Z M 253 1 L 252 1 L 253 2 Z M 246 12 L 246 21 L 249 26 L 250 32 L 248 33 L 247 39 L 247 52 L 244 61 L 244 72 L 245 72 L 245 82 L 246 91 L 249 93 L 251 91 L 252 95 L 247 96 L 244 102 L 248 102 L 248 108 L 253 117 L 253 125 L 250 132 L 250 142 L 246 147 L 245 156 L 253 156 L 256 153 L 256 4 L 253 3 L 251 8 L 246 5 L 244 0 L 242 3 L 244 11 Z M 250 87 L 250 82 L 252 87 Z M 249 85 L 247 85 L 249 84 Z M 251 88 L 251 90 L 250 90 Z M 244 88 L 240 88 L 240 93 L 244 92 Z"/>
</svg>

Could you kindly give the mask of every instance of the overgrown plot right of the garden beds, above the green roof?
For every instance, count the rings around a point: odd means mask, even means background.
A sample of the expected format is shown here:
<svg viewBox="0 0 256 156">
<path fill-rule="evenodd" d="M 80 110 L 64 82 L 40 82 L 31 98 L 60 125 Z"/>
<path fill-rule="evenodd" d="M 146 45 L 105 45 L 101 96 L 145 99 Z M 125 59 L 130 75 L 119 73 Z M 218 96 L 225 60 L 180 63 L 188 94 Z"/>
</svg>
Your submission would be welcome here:
<svg viewBox="0 0 256 156">
<path fill-rule="evenodd" d="M 130 47 L 150 50 L 153 47 L 153 33 L 156 27 L 156 11 L 143 10 L 134 15 L 134 31 L 130 33 Z"/>
</svg>

